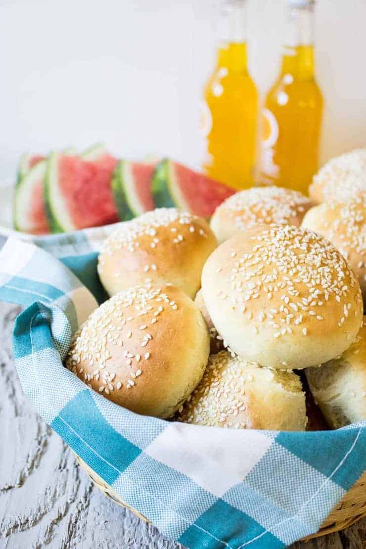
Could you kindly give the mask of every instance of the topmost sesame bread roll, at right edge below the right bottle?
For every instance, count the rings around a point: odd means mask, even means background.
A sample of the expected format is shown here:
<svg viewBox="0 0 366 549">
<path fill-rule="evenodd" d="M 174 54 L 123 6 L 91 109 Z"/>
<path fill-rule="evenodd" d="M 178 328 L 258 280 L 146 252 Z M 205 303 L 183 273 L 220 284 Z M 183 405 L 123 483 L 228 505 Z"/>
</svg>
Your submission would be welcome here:
<svg viewBox="0 0 366 549">
<path fill-rule="evenodd" d="M 329 160 L 309 185 L 309 197 L 316 204 L 329 200 L 345 202 L 364 193 L 366 149 L 352 150 Z"/>
</svg>

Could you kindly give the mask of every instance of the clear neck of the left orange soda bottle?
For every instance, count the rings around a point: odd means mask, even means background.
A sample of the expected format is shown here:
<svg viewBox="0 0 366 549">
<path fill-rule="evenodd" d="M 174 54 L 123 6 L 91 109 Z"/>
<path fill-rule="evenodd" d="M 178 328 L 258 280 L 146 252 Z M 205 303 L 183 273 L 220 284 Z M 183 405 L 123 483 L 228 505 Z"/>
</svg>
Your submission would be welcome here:
<svg viewBox="0 0 366 549">
<path fill-rule="evenodd" d="M 223 3 L 217 66 L 235 72 L 247 69 L 246 0 L 226 0 Z"/>
</svg>

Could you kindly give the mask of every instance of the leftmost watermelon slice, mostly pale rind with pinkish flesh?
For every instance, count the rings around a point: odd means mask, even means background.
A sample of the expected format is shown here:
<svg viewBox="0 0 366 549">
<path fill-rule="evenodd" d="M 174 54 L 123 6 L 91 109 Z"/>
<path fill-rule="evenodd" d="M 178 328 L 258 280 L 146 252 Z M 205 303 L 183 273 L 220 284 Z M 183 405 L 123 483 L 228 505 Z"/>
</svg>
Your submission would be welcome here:
<svg viewBox="0 0 366 549">
<path fill-rule="evenodd" d="M 31 163 L 29 163 L 31 165 Z M 16 184 L 13 220 L 17 231 L 31 234 L 49 233 L 43 200 L 43 179 L 46 160 L 33 163 L 29 171 Z"/>
</svg>

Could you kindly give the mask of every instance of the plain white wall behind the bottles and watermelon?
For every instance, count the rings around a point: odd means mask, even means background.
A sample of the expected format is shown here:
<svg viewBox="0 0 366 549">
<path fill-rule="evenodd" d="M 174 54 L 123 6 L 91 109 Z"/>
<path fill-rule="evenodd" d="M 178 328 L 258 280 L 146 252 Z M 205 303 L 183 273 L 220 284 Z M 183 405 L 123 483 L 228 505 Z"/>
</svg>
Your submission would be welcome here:
<svg viewBox="0 0 366 549">
<path fill-rule="evenodd" d="M 252 75 L 278 71 L 284 0 L 249 1 Z M 23 150 L 105 141 L 198 165 L 218 0 L 0 0 L 0 180 Z M 366 145 L 366 0 L 318 0 L 322 160 Z"/>
</svg>

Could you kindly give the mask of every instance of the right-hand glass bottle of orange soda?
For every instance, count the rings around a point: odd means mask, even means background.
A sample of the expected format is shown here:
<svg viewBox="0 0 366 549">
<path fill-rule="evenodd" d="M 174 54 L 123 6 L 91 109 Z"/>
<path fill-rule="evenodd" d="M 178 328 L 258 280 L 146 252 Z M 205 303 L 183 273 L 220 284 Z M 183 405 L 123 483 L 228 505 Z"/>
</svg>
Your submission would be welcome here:
<svg viewBox="0 0 366 549">
<path fill-rule="evenodd" d="M 318 170 L 323 97 L 314 77 L 314 0 L 287 0 L 280 75 L 264 102 L 260 184 L 307 193 Z"/>
</svg>

